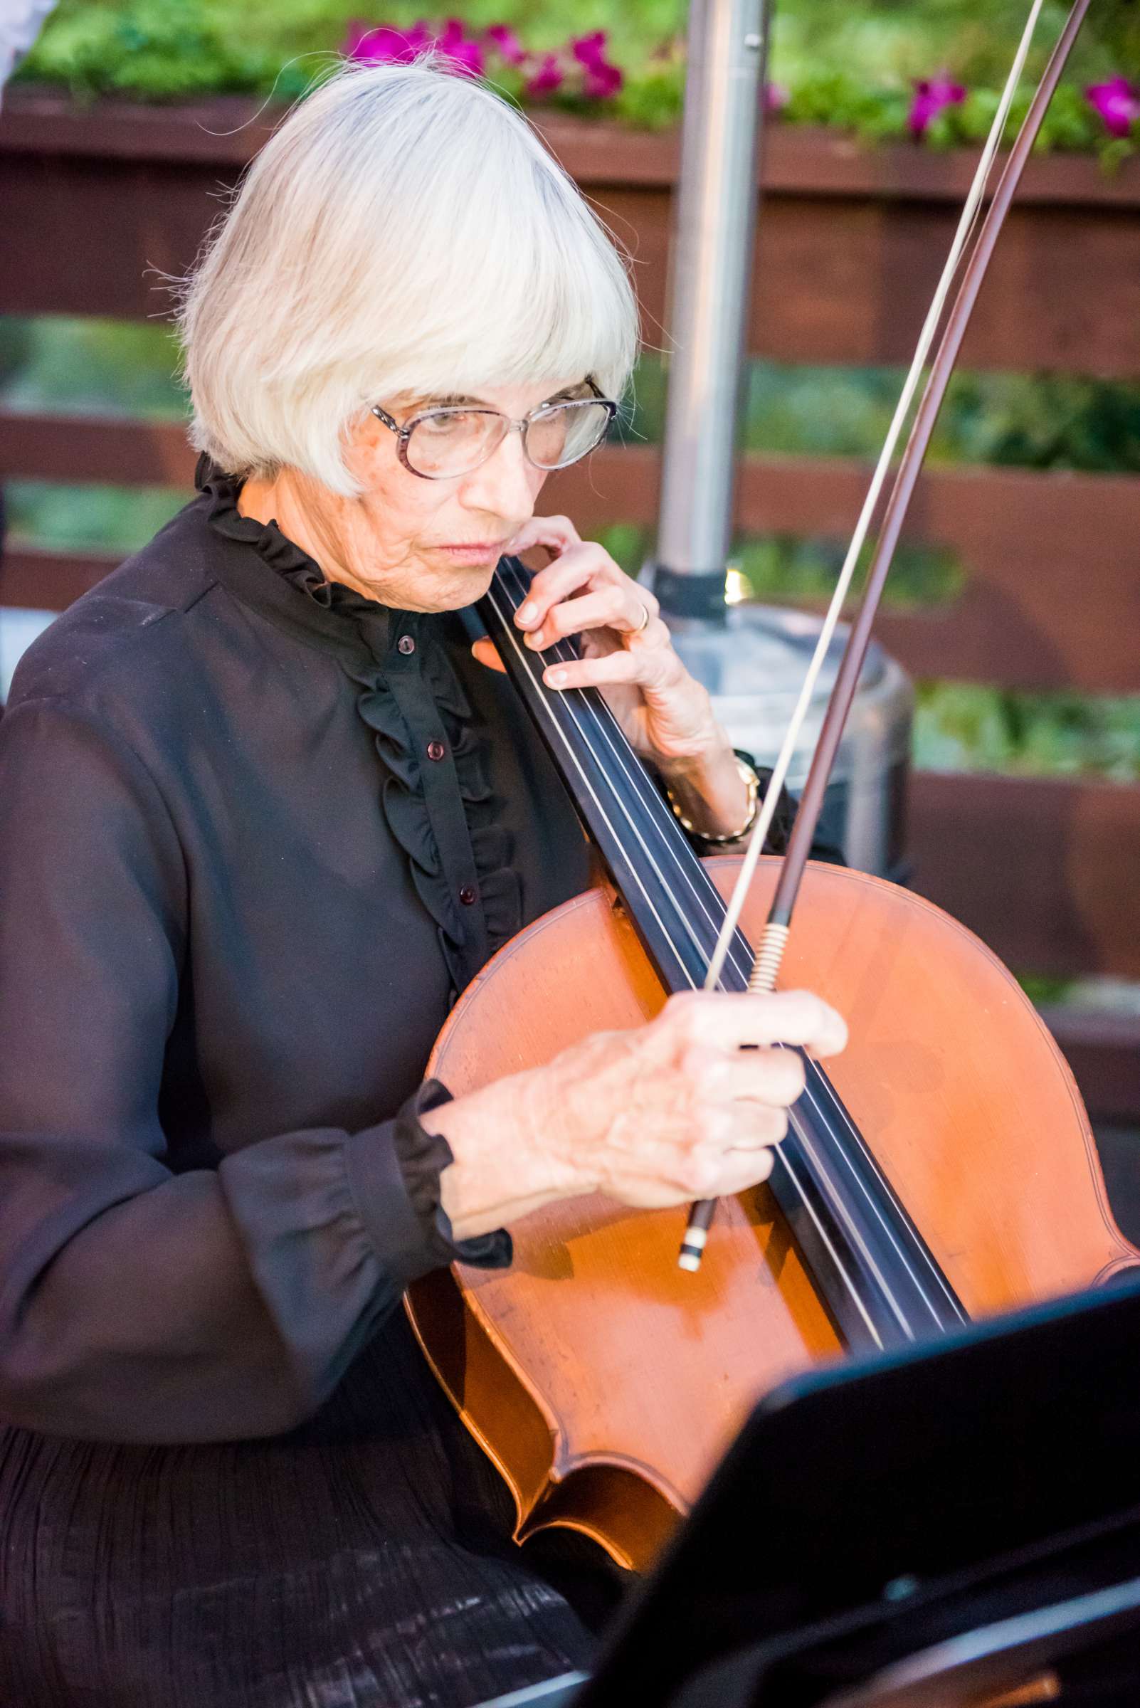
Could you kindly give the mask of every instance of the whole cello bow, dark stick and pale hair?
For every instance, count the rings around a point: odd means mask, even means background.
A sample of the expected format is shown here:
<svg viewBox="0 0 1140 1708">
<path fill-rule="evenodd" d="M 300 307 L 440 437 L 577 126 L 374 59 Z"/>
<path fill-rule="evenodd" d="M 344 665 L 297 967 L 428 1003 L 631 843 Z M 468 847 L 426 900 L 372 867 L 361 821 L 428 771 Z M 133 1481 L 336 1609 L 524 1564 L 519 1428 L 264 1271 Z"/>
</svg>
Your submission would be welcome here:
<svg viewBox="0 0 1140 1708">
<path fill-rule="evenodd" d="M 997 244 L 998 234 L 1005 222 L 1005 215 L 1009 214 L 1010 203 L 1017 191 L 1017 184 L 1021 183 L 1026 161 L 1029 159 L 1032 145 L 1038 138 L 1041 120 L 1044 118 L 1050 101 L 1053 99 L 1053 92 L 1056 89 L 1060 75 L 1065 70 L 1065 63 L 1068 60 L 1072 46 L 1077 39 L 1085 12 L 1089 10 L 1089 3 L 1091 0 L 1073 0 L 1073 5 L 1056 39 L 1053 53 L 1050 55 L 1050 61 L 1044 68 L 1044 73 L 1041 75 L 1041 80 L 1034 91 L 1032 101 L 1029 102 L 1029 111 L 1026 113 L 1017 138 L 1014 140 L 1009 161 L 1005 162 L 1005 169 L 998 179 L 997 190 L 993 191 L 993 198 L 990 202 L 990 208 L 981 224 L 974 251 L 969 256 L 961 285 L 957 289 L 957 295 L 954 297 L 954 302 L 951 306 L 945 330 L 942 333 L 939 348 L 930 366 L 930 374 L 927 376 L 927 384 L 918 401 L 918 410 L 915 412 L 915 420 L 911 424 L 911 430 L 906 439 L 906 447 L 903 451 L 894 477 L 891 497 L 887 500 L 887 507 L 882 518 L 882 526 L 879 529 L 879 540 L 875 543 L 875 552 L 870 562 L 870 569 L 867 572 L 867 584 L 860 601 L 858 615 L 852 623 L 852 630 L 848 634 L 846 646 L 843 649 L 840 671 L 835 680 L 831 697 L 828 700 L 828 711 L 823 721 L 823 728 L 819 731 L 819 740 L 816 743 L 816 752 L 812 755 L 807 782 L 804 786 L 804 793 L 800 796 L 800 803 L 795 813 L 792 835 L 788 837 L 788 845 L 783 854 L 780 880 L 776 883 L 776 893 L 771 909 L 768 912 L 768 922 L 765 926 L 763 936 L 759 939 L 759 948 L 756 951 L 756 958 L 753 963 L 749 991 L 775 989 L 776 975 L 780 972 L 780 962 L 783 958 L 783 948 L 787 945 L 788 931 L 792 926 L 792 910 L 795 907 L 800 880 L 804 876 L 804 866 L 807 864 L 807 854 L 811 851 L 811 844 L 816 835 L 819 813 L 823 811 L 824 791 L 828 787 L 831 767 L 835 763 L 835 757 L 838 753 L 840 741 L 843 738 L 843 728 L 846 724 L 846 717 L 852 709 L 852 702 L 855 699 L 858 676 L 864 668 L 867 647 L 870 644 L 870 629 L 875 618 L 875 611 L 879 610 L 879 600 L 886 586 L 887 572 L 891 569 L 891 560 L 894 557 L 894 548 L 898 545 L 898 538 L 903 529 L 903 523 L 906 519 L 906 509 L 910 506 L 915 483 L 922 471 L 927 447 L 930 444 L 930 436 L 934 432 L 934 425 L 937 422 L 939 410 L 945 396 L 945 388 L 949 384 L 951 372 L 954 371 L 954 362 L 957 360 L 957 354 L 961 350 L 961 343 L 966 335 L 969 316 L 973 313 L 974 302 L 978 301 L 978 292 L 986 275 L 993 248 Z M 831 635 L 835 634 L 835 625 L 838 622 L 846 589 L 855 572 L 855 564 L 858 560 L 860 548 L 867 536 L 867 528 L 870 524 L 872 512 L 875 509 L 879 494 L 882 490 L 882 483 L 886 480 L 886 470 L 899 436 L 903 418 L 913 398 L 918 374 L 934 342 L 934 333 L 942 313 L 942 306 L 945 304 L 945 297 L 949 295 L 949 287 L 954 272 L 957 270 L 957 263 L 964 253 L 969 231 L 973 227 L 974 214 L 981 200 L 981 193 L 985 190 L 985 181 L 1002 135 L 1002 128 L 1005 125 L 1005 118 L 1009 114 L 1009 106 L 1014 97 L 1014 91 L 1017 87 L 1017 79 L 1024 67 L 1026 53 L 1029 50 L 1029 41 L 1032 38 L 1032 29 L 1036 26 L 1039 10 L 1041 10 L 1041 0 L 1036 0 L 1021 39 L 1017 56 L 1010 70 L 1010 77 L 1002 94 L 1002 102 L 990 128 L 986 147 L 983 149 L 981 159 L 978 162 L 974 181 L 963 207 L 963 215 L 959 219 L 954 244 L 951 246 L 951 254 L 947 256 L 942 278 L 939 280 L 939 289 L 935 290 L 934 302 L 923 323 L 923 330 L 918 340 L 918 348 L 915 352 L 915 360 L 911 362 L 911 369 L 906 377 L 903 395 L 899 396 L 899 405 L 896 408 L 891 429 L 887 432 L 887 441 L 882 447 L 879 463 L 875 466 L 870 490 L 864 502 L 864 509 L 860 512 L 858 524 L 855 528 L 855 536 L 852 540 L 852 547 L 848 548 L 843 570 L 840 574 L 840 582 L 831 600 L 831 606 L 828 608 L 824 629 L 821 632 L 819 644 L 812 656 L 812 663 L 809 666 L 807 678 L 800 692 L 800 699 L 792 716 L 792 722 L 788 726 L 788 733 L 780 750 L 776 767 L 771 774 L 771 781 L 765 794 L 763 810 L 753 828 L 747 852 L 741 866 L 741 873 L 737 876 L 737 883 L 732 892 L 732 898 L 725 910 L 724 926 L 717 939 L 712 960 L 708 963 L 708 977 L 705 980 L 705 989 L 713 989 L 717 986 L 717 980 L 720 977 L 720 968 L 724 967 L 724 956 L 727 953 L 727 946 L 732 939 L 732 933 L 736 931 L 736 924 L 741 917 L 744 897 L 747 893 L 753 873 L 756 871 L 756 863 L 759 859 L 765 837 L 771 825 L 771 815 L 775 811 L 775 804 L 780 789 L 783 786 L 788 763 L 792 760 L 792 752 L 795 748 L 795 738 L 799 734 L 799 728 L 811 702 L 811 692 L 814 681 L 823 666 L 823 659 L 826 656 Z M 715 1213 L 715 1204 L 717 1204 L 715 1199 L 703 1199 L 701 1202 L 693 1206 L 684 1233 L 684 1242 L 681 1245 L 681 1254 L 678 1257 L 678 1262 L 683 1269 L 700 1267 L 701 1252 L 705 1249 L 705 1240 Z"/>
</svg>

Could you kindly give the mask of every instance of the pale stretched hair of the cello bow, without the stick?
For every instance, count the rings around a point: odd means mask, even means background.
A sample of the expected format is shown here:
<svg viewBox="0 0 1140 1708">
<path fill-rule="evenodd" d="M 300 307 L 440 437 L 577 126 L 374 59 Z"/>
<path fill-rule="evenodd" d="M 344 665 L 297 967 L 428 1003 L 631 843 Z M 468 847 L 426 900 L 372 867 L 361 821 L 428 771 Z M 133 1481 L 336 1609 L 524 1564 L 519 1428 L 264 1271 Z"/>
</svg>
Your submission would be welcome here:
<svg viewBox="0 0 1140 1708">
<path fill-rule="evenodd" d="M 867 541 L 867 533 L 870 529 L 870 519 L 872 519 L 874 511 L 875 511 L 875 507 L 879 504 L 879 499 L 882 495 L 882 487 L 886 483 L 887 470 L 889 470 L 889 465 L 891 465 L 891 458 L 894 456 L 894 449 L 898 446 L 899 434 L 903 430 L 903 422 L 906 420 L 906 415 L 910 413 L 910 407 L 911 407 L 911 403 L 915 400 L 915 391 L 918 389 L 918 381 L 922 377 L 923 366 L 925 366 L 927 357 L 930 354 L 930 347 L 934 345 L 934 336 L 935 336 L 935 331 L 939 328 L 939 321 L 942 319 L 942 311 L 945 307 L 945 301 L 949 297 L 951 285 L 954 282 L 954 275 L 956 275 L 956 272 L 959 268 L 959 263 L 961 263 L 963 254 L 966 251 L 966 244 L 968 244 L 969 236 L 971 236 L 971 232 L 974 229 L 978 210 L 981 207 L 981 198 L 985 195 L 985 186 L 986 186 L 986 181 L 990 178 L 990 171 L 992 171 L 993 159 L 995 159 L 997 150 L 998 150 L 998 143 L 1002 140 L 1002 133 L 1005 130 L 1005 121 L 1009 118 L 1009 109 L 1010 109 L 1014 96 L 1017 92 L 1017 84 L 1021 82 L 1021 73 L 1024 70 L 1026 58 L 1027 58 L 1027 53 L 1029 53 L 1029 46 L 1032 43 L 1032 36 L 1034 36 L 1034 31 L 1036 31 L 1038 17 L 1041 14 L 1041 5 L 1043 5 L 1043 0 L 1034 0 L 1032 7 L 1029 10 L 1029 19 L 1027 19 L 1026 27 L 1022 31 L 1021 41 L 1017 44 L 1017 53 L 1014 55 L 1014 63 L 1010 67 L 1009 77 L 1005 80 L 1005 87 L 1002 91 L 1002 99 L 998 102 L 997 113 L 993 114 L 993 123 L 990 125 L 990 133 L 986 137 L 985 147 L 983 147 L 981 155 L 978 159 L 978 167 L 974 171 L 974 176 L 973 176 L 973 181 L 971 181 L 971 186 L 969 186 L 969 193 L 966 196 L 966 202 L 963 203 L 963 212 L 961 212 L 959 222 L 957 222 L 957 231 L 954 232 L 954 241 L 951 244 L 951 251 L 947 254 L 945 266 L 942 268 L 942 275 L 939 278 L 937 290 L 934 294 L 934 299 L 932 299 L 930 307 L 927 311 L 927 318 L 925 318 L 922 331 L 918 335 L 918 345 L 915 347 L 915 355 L 913 355 L 910 371 L 906 374 L 906 381 L 903 384 L 903 391 L 899 393 L 899 400 L 898 400 L 898 405 L 894 408 L 894 415 L 891 418 L 891 425 L 887 429 L 887 436 L 886 436 L 884 442 L 882 442 L 882 451 L 879 453 L 879 461 L 875 463 L 875 470 L 874 470 L 872 480 L 870 480 L 870 487 L 867 488 L 867 497 L 864 499 L 864 507 L 862 507 L 862 511 L 858 514 L 858 521 L 855 524 L 855 533 L 852 535 L 852 541 L 850 541 L 850 547 L 846 550 L 846 557 L 843 559 L 843 567 L 840 570 L 840 579 L 838 579 L 835 593 L 831 596 L 831 603 L 828 606 L 828 613 L 824 617 L 823 629 L 819 630 L 819 639 L 816 642 L 816 651 L 812 652 L 812 659 L 811 659 L 811 664 L 807 666 L 807 675 L 804 676 L 804 685 L 800 688 L 799 700 L 795 702 L 795 709 L 794 709 L 792 717 L 788 721 L 788 728 L 785 731 L 783 743 L 780 746 L 780 753 L 776 755 L 776 763 L 773 767 L 771 777 L 768 781 L 768 787 L 765 791 L 765 799 L 763 799 L 763 804 L 761 804 L 761 810 L 759 810 L 759 816 L 758 816 L 758 820 L 756 820 L 756 823 L 753 827 L 753 834 L 751 834 L 751 839 L 749 839 L 749 844 L 747 844 L 747 849 L 746 849 L 746 854 L 744 854 L 744 864 L 741 866 L 741 871 L 737 874 L 736 888 L 732 892 L 732 897 L 730 897 L 727 910 L 725 910 L 724 926 L 720 929 L 720 936 L 717 939 L 717 946 L 713 948 L 712 960 L 708 963 L 708 972 L 707 972 L 707 979 L 705 979 L 705 989 L 715 987 L 715 984 L 717 984 L 717 980 L 720 977 L 720 968 L 724 965 L 724 958 L 725 958 L 725 951 L 727 951 L 727 943 L 729 943 L 732 933 L 736 931 L 737 921 L 741 917 L 741 910 L 744 907 L 744 897 L 747 895 L 749 885 L 751 885 L 754 871 L 756 871 L 756 863 L 759 859 L 761 849 L 763 849 L 765 840 L 768 837 L 768 830 L 771 828 L 771 820 L 773 820 L 773 815 L 775 815 L 775 810 L 776 810 L 776 803 L 780 799 L 780 789 L 783 787 L 783 782 L 787 779 L 787 774 L 788 774 L 788 769 L 790 769 L 790 763 L 792 763 L 792 758 L 794 758 L 794 753 L 795 753 L 795 743 L 799 741 L 799 734 L 800 734 L 800 729 L 804 726 L 804 719 L 807 716 L 807 709 L 811 705 L 811 699 L 812 699 L 816 683 L 819 680 L 819 673 L 823 670 L 828 649 L 829 649 L 831 640 L 835 637 L 835 630 L 838 627 L 840 615 L 841 615 L 843 605 L 846 601 L 846 594 L 850 591 L 852 579 L 855 576 L 855 567 L 858 564 L 858 557 L 860 557 L 862 548 L 864 548 L 864 545 Z"/>
</svg>

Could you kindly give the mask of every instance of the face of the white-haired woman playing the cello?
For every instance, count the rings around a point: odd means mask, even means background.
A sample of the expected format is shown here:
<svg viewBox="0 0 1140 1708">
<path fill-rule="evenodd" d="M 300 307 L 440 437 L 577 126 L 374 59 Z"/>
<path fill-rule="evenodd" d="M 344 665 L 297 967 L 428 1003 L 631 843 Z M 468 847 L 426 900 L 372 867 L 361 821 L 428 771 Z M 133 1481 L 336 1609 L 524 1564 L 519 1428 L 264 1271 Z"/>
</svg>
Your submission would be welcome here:
<svg viewBox="0 0 1140 1708">
<path fill-rule="evenodd" d="M 480 398 L 379 398 L 401 425 L 432 405 L 480 403 L 521 420 L 580 376 L 534 386 L 486 388 Z M 527 463 L 522 436 L 507 434 L 493 456 L 454 480 L 422 480 L 398 456 L 396 434 L 367 415 L 350 439 L 346 461 L 365 492 L 341 499 L 324 487 L 297 485 L 307 541 L 324 572 L 357 591 L 411 611 L 471 605 L 490 586 L 507 541 L 534 512 L 546 473 Z M 283 506 L 282 506 L 283 509 Z M 278 512 L 288 533 L 288 523 Z"/>
</svg>

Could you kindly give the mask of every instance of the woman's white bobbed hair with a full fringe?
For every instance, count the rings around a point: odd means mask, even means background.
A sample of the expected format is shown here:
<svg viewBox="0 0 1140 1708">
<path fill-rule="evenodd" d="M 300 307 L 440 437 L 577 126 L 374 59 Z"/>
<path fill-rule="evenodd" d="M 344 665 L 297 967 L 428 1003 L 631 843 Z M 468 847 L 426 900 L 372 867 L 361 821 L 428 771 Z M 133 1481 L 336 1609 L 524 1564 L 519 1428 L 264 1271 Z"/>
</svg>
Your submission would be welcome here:
<svg viewBox="0 0 1140 1708">
<path fill-rule="evenodd" d="M 345 497 L 386 398 L 587 374 L 621 398 L 637 302 L 614 241 L 490 89 L 341 65 L 261 149 L 183 282 L 191 441 L 232 475 Z"/>
</svg>

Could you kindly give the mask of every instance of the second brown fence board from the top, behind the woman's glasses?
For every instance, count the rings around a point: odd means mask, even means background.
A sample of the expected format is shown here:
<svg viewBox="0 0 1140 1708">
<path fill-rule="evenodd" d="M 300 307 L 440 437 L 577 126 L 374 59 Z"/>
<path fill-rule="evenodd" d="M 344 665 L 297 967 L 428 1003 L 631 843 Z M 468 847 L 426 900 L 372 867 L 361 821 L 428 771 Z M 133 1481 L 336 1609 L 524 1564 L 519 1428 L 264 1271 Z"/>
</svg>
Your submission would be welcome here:
<svg viewBox="0 0 1140 1708">
<path fill-rule="evenodd" d="M 179 422 L 0 413 L 0 468 L 41 480 L 181 485 L 189 495 L 195 453 Z M 614 521 L 652 528 L 659 478 L 655 449 L 611 447 L 551 478 L 543 509 L 565 507 L 585 531 Z M 845 543 L 867 480 L 857 461 L 747 458 L 737 526 Z M 875 632 L 918 678 L 1140 692 L 1138 516 L 1131 475 L 932 468 L 906 538 L 954 553 L 966 586 L 945 606 L 886 610 Z"/>
</svg>

